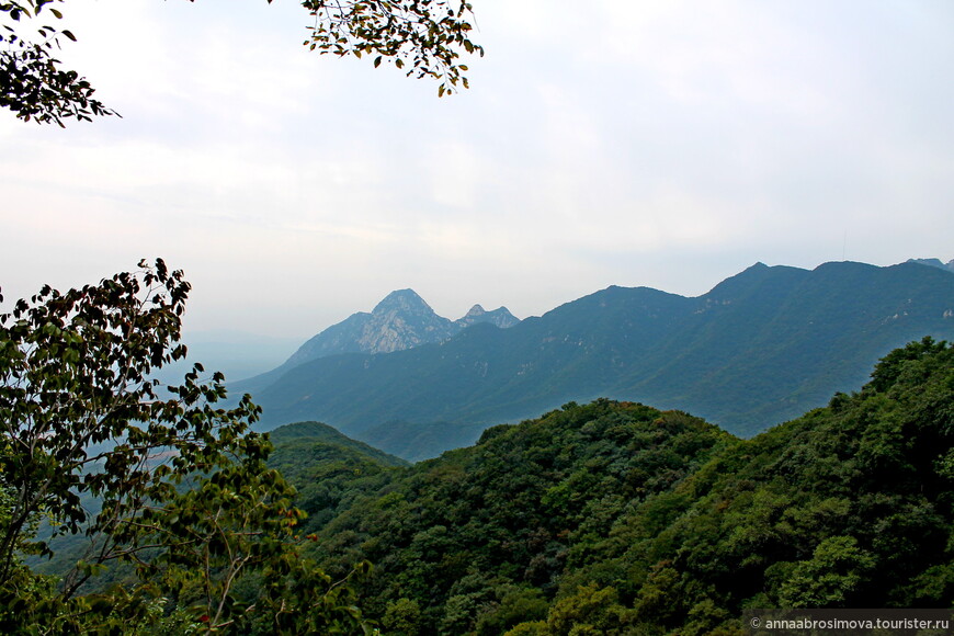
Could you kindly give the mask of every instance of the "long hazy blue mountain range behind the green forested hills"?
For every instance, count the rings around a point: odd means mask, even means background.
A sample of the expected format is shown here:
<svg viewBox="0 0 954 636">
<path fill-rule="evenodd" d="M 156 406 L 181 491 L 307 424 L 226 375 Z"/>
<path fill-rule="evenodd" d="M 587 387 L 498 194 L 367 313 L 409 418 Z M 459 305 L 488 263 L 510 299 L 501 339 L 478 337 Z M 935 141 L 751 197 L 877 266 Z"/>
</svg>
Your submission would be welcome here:
<svg viewBox="0 0 954 636">
<path fill-rule="evenodd" d="M 856 389 L 896 347 L 928 334 L 954 339 L 954 276 L 916 262 L 811 271 L 757 263 L 697 297 L 611 286 L 508 329 L 418 330 L 431 342 L 389 353 L 354 351 L 340 338 L 345 325 L 364 329 L 385 308 L 394 320 L 401 307 L 427 307 L 409 291 L 395 294 L 397 303 L 329 328 L 277 370 L 231 389 L 252 393 L 266 429 L 320 420 L 412 459 L 472 443 L 488 425 L 597 397 L 686 410 L 749 436 Z M 332 342 L 352 349 L 328 354 Z M 308 351 L 317 353 L 307 359 Z"/>
</svg>

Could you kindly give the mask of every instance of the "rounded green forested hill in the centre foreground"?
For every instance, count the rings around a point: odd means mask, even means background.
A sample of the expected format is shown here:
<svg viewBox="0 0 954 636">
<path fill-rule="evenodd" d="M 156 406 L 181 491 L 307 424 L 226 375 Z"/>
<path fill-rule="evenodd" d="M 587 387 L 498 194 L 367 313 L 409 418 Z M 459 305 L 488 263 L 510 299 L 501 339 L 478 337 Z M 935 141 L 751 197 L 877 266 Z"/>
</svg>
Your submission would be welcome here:
<svg viewBox="0 0 954 636">
<path fill-rule="evenodd" d="M 420 634 L 501 634 L 546 618 L 560 577 L 589 561 L 609 520 L 729 441 L 677 411 L 570 404 L 376 485 L 342 474 L 332 482 L 349 495 L 330 519 L 319 510 L 326 500 L 296 481 L 298 504 L 314 511 L 309 552 L 326 571 L 375 564 L 359 588 L 371 616 L 397 625 L 411 615 Z"/>
</svg>

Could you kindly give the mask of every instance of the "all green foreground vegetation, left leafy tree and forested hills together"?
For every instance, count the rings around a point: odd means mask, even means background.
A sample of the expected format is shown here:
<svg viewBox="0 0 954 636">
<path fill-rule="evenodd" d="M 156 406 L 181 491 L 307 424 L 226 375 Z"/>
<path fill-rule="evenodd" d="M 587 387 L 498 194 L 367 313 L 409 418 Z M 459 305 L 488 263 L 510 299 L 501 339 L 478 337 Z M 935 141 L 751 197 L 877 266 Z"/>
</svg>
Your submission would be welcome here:
<svg viewBox="0 0 954 636">
<path fill-rule="evenodd" d="M 732 634 L 747 609 L 954 604 L 946 342 L 750 440 L 599 399 L 408 465 L 317 422 L 254 433 L 201 366 L 164 398 L 188 292 L 158 261 L 0 317 L 4 633 Z"/>
</svg>

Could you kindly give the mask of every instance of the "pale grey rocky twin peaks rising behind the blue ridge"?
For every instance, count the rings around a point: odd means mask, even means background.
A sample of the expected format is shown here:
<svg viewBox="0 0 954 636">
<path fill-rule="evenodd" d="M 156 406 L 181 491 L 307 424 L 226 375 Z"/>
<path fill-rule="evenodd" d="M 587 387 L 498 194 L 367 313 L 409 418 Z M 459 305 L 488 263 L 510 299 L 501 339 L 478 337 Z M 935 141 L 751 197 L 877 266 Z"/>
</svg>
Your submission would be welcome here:
<svg viewBox="0 0 954 636">
<path fill-rule="evenodd" d="M 439 316 L 413 289 L 391 292 L 371 314 L 359 311 L 315 336 L 283 366 L 296 366 L 310 360 L 338 353 L 390 353 L 453 338 L 478 322 L 504 329 L 520 320 L 507 307 L 485 311 L 474 305 L 458 320 Z"/>
</svg>

